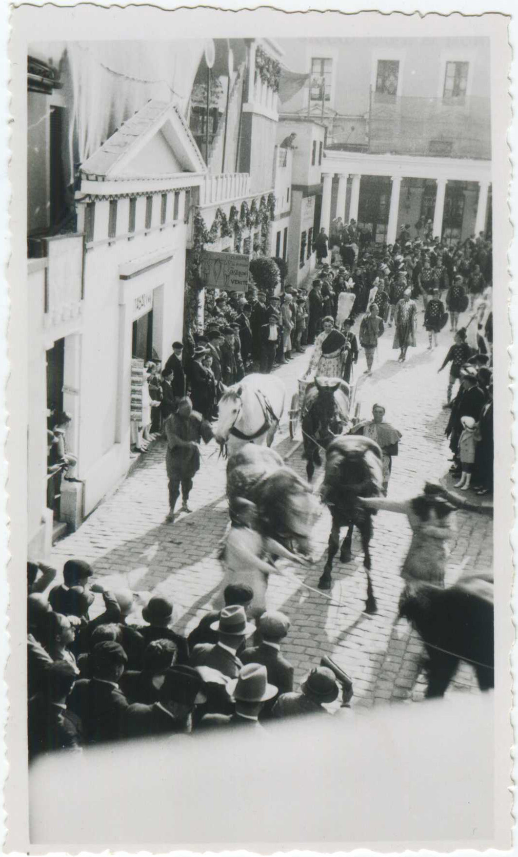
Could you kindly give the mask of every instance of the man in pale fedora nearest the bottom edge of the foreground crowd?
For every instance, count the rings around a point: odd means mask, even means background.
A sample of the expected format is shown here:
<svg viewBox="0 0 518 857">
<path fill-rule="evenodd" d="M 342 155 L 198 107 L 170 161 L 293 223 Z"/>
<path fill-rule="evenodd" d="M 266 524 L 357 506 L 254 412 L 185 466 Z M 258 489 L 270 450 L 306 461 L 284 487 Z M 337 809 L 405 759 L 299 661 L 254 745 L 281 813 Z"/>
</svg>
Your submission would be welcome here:
<svg viewBox="0 0 518 857">
<path fill-rule="evenodd" d="M 277 696 L 278 688 L 268 681 L 266 668 L 260 663 L 247 663 L 239 675 L 229 681 L 227 693 L 235 704 L 232 715 L 209 714 L 199 728 L 213 726 L 248 726 L 260 728 L 259 714 L 268 700 Z"/>
</svg>

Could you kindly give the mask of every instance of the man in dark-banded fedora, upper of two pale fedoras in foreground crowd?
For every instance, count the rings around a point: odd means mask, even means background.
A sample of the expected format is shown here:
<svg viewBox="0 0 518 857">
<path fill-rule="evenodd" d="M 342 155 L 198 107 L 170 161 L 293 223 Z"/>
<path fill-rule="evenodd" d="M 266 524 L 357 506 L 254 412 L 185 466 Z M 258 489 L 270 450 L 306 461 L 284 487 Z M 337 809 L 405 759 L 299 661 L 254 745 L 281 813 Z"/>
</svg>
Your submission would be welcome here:
<svg viewBox="0 0 518 857">
<path fill-rule="evenodd" d="M 217 643 L 195 645 L 191 653 L 191 666 L 211 667 L 229 679 L 237 678 L 242 667 L 237 652 L 247 637 L 253 634 L 255 626 L 247 621 L 244 607 L 232 604 L 223 607 L 219 619 L 212 622 L 211 629 L 217 631 Z"/>
</svg>

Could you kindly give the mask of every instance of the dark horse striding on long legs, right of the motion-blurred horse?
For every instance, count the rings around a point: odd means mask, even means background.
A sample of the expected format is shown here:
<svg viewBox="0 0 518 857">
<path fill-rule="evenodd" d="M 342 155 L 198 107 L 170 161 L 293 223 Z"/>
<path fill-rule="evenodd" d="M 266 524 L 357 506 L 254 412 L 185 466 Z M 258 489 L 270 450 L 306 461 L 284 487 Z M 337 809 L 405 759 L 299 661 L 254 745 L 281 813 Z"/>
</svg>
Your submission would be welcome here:
<svg viewBox="0 0 518 857">
<path fill-rule="evenodd" d="M 340 544 L 340 530 L 348 527 L 342 542 L 341 562 L 352 557 L 351 545 L 354 526 L 358 527 L 363 548 L 363 565 L 367 576 L 366 613 L 376 613 L 377 605 L 372 591 L 371 554 L 372 512 L 363 506 L 359 497 L 379 497 L 383 494 L 382 452 L 374 440 L 355 434 L 344 434 L 332 440 L 325 456 L 325 476 L 322 501 L 329 507 L 332 527 L 324 572 L 319 589 L 331 585 L 331 567 Z"/>
</svg>

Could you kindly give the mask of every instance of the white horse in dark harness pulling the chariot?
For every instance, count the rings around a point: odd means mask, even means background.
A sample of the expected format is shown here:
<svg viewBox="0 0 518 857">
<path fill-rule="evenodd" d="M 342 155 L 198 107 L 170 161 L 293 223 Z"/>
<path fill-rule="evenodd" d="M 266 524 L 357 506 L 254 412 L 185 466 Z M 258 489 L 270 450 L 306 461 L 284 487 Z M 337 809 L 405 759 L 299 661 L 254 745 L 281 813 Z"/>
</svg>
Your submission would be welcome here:
<svg viewBox="0 0 518 857">
<path fill-rule="evenodd" d="M 247 375 L 225 387 L 214 426 L 217 443 L 226 443 L 229 456 L 246 443 L 271 446 L 285 397 L 283 381 L 272 375 Z"/>
</svg>

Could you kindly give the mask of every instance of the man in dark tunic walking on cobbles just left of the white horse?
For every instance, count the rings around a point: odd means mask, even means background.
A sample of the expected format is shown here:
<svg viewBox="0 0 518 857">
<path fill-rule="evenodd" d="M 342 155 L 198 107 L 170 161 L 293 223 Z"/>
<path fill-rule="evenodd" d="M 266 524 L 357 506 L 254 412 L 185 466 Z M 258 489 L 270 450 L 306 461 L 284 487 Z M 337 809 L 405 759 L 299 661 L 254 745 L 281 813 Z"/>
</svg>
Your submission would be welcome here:
<svg viewBox="0 0 518 857">
<path fill-rule="evenodd" d="M 169 478 L 169 506 L 166 518 L 173 523 L 176 500 L 182 486 L 182 512 L 190 512 L 188 498 L 193 487 L 194 475 L 199 470 L 201 440 L 208 443 L 213 437 L 210 423 L 197 411 L 193 411 L 191 399 L 180 399 L 176 413 L 170 414 L 164 422 L 167 438 L 165 466 Z"/>
</svg>

